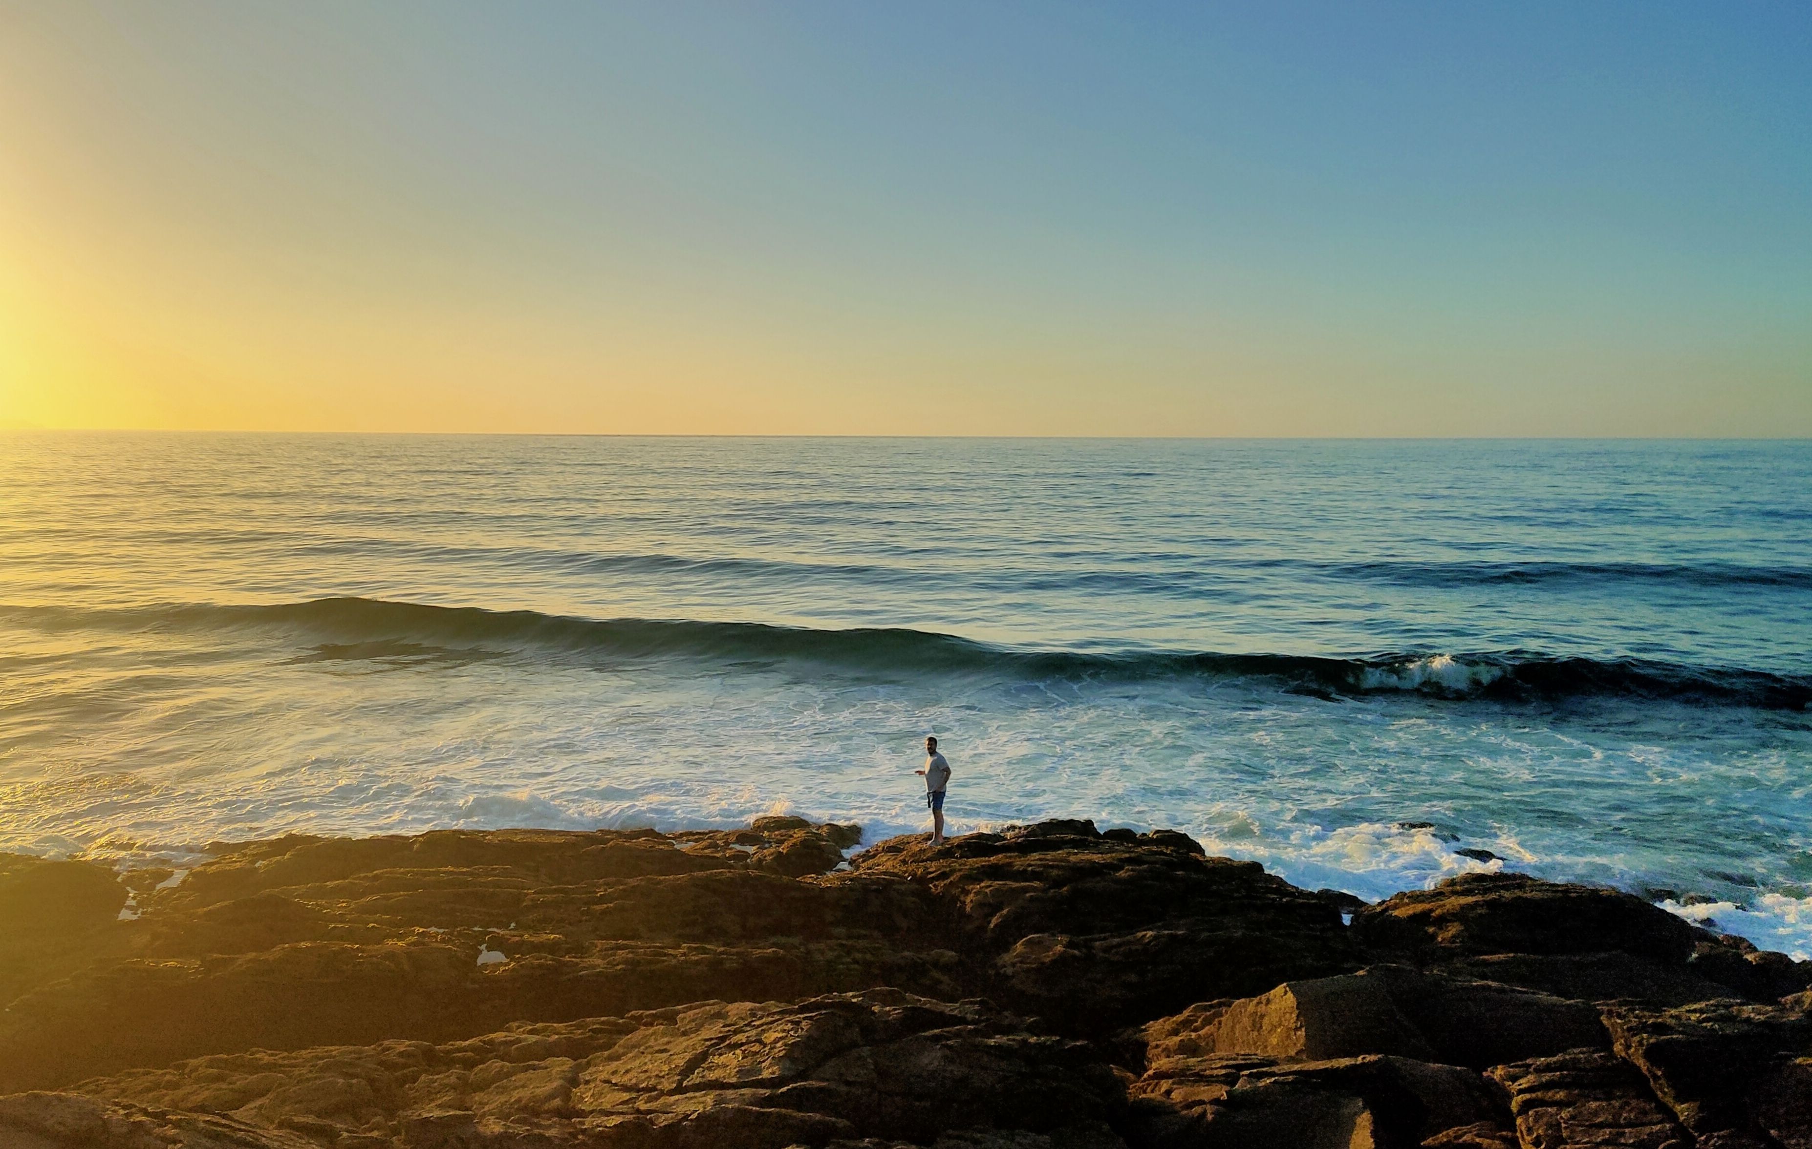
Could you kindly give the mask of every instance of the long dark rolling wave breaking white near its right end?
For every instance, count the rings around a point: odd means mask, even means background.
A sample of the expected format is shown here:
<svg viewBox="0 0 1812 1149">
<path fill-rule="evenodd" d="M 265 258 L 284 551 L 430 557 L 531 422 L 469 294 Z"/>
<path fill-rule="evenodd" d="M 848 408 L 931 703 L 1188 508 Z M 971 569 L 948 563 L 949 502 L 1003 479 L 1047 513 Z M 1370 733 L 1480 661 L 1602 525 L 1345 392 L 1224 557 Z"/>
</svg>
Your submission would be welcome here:
<svg viewBox="0 0 1812 1149">
<path fill-rule="evenodd" d="M 1397 651 L 1366 657 L 1129 650 L 1027 650 L 910 628 L 803 628 L 694 619 L 583 619 L 533 610 L 313 599 L 266 606 L 170 604 L 82 610 L 0 606 L 0 621 L 42 630 L 279 630 L 317 657 L 399 651 L 569 651 L 612 659 L 819 662 L 864 671 L 997 675 L 1026 680 L 1258 679 L 1328 698 L 1417 691 L 1439 698 L 1633 697 L 1807 709 L 1812 675 L 1649 659 L 1533 651 Z M 424 646 L 426 644 L 426 646 Z M 462 659 L 469 660 L 469 659 Z"/>
</svg>

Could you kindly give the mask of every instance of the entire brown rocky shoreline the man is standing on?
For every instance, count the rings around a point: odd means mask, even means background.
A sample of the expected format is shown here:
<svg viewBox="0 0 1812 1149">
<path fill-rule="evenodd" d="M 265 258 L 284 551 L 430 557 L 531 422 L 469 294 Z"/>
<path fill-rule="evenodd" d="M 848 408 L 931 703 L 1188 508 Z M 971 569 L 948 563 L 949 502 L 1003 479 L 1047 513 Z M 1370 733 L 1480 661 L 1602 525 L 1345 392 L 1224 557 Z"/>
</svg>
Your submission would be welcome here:
<svg viewBox="0 0 1812 1149">
<path fill-rule="evenodd" d="M 1046 821 L 0 856 L 5 1149 L 1812 1149 L 1812 963 Z M 121 881 L 130 883 L 130 888 Z"/>
</svg>

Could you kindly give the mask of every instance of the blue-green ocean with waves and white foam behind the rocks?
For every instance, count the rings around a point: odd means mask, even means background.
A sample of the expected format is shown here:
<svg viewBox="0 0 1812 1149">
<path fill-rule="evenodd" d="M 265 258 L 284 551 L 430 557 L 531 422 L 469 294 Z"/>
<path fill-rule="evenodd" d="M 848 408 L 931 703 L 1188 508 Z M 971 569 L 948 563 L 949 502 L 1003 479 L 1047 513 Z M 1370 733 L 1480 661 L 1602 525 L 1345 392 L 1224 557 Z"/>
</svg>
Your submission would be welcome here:
<svg viewBox="0 0 1812 1149">
<path fill-rule="evenodd" d="M 0 849 L 1174 827 L 1812 955 L 1812 443 L 0 434 Z M 1466 852 L 1460 852 L 1466 850 Z"/>
</svg>

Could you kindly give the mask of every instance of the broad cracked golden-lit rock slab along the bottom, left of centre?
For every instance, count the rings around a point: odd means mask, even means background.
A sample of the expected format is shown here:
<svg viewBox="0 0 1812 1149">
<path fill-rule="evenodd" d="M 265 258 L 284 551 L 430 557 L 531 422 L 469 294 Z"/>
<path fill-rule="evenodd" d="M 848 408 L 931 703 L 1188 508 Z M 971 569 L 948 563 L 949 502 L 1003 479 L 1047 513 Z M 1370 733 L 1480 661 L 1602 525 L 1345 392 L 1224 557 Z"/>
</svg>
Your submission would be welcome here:
<svg viewBox="0 0 1812 1149">
<path fill-rule="evenodd" d="M 337 1145 L 578 1144 L 781 1149 L 834 1138 L 1118 1145 L 1123 1087 L 1084 1042 L 984 1002 L 897 990 L 701 1002 L 467 1042 L 208 1057 L 83 1093 L 226 1113 Z M 531 1140 L 531 1136 L 542 1140 Z M 487 1140 L 489 1138 L 489 1140 Z M 507 1140 L 518 1138 L 518 1140 Z"/>
</svg>

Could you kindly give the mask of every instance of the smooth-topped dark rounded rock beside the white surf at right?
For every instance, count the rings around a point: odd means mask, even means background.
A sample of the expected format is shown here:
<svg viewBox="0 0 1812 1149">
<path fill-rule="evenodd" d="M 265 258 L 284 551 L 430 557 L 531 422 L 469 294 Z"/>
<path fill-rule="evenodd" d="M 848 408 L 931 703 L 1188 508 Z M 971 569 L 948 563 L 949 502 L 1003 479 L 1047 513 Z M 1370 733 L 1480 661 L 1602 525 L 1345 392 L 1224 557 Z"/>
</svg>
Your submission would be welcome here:
<svg viewBox="0 0 1812 1149">
<path fill-rule="evenodd" d="M 1422 961 L 1622 952 L 1685 964 L 1694 943 L 1691 925 L 1633 894 L 1522 874 L 1460 874 L 1370 905 L 1352 926 L 1372 950 Z"/>
</svg>

